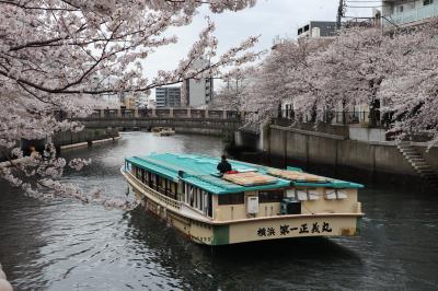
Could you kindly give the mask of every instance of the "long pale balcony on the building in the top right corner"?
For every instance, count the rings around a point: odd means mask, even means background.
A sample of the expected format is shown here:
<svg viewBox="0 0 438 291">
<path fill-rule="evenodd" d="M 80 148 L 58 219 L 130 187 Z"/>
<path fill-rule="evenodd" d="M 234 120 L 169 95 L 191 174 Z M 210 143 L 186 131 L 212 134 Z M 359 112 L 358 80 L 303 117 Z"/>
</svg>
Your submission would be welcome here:
<svg viewBox="0 0 438 291">
<path fill-rule="evenodd" d="M 438 16 L 438 2 L 388 15 L 383 20 L 383 25 L 388 27 L 394 26 L 394 24 L 397 26 L 410 26 L 436 16 Z"/>
</svg>

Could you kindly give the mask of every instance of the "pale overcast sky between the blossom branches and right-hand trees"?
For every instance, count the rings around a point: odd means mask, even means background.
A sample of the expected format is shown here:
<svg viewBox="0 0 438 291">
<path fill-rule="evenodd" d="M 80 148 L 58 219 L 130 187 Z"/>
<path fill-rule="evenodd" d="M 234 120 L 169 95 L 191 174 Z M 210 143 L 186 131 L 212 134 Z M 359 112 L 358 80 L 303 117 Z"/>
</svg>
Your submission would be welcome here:
<svg viewBox="0 0 438 291">
<path fill-rule="evenodd" d="M 206 26 L 206 15 L 216 23 L 219 53 L 251 35 L 261 35 L 256 49 L 263 50 L 272 47 L 277 35 L 296 38 L 298 27 L 309 21 L 335 21 L 337 5 L 338 0 L 257 0 L 254 8 L 239 12 L 211 14 L 207 9 L 201 9 L 189 26 L 174 30 L 173 33 L 178 37 L 176 45 L 160 48 L 149 57 L 146 73 L 152 77 L 157 70 L 174 69 Z M 371 9 L 347 9 L 346 15 L 369 16 Z"/>
</svg>

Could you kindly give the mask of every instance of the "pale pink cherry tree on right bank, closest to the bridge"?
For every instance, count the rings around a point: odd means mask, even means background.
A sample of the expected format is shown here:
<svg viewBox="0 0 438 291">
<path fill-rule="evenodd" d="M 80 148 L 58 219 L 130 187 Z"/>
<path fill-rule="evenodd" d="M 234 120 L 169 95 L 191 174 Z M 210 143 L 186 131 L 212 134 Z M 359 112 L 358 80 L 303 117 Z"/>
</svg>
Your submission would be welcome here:
<svg viewBox="0 0 438 291">
<path fill-rule="evenodd" d="M 284 40 L 273 47 L 265 60 L 254 68 L 249 85 L 240 95 L 243 108 L 255 113 L 251 123 L 275 117 L 281 101 L 286 100 L 301 100 L 306 109 L 314 107 L 321 89 L 314 82 L 309 61 L 325 45 L 312 40 L 301 44 Z"/>
</svg>

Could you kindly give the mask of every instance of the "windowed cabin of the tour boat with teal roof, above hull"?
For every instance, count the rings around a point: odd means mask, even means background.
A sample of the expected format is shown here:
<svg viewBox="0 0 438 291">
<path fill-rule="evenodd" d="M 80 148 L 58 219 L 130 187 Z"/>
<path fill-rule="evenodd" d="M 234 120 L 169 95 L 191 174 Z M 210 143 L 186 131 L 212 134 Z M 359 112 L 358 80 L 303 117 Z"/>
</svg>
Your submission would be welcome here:
<svg viewBox="0 0 438 291">
<path fill-rule="evenodd" d="M 158 200 L 205 221 L 314 213 L 360 213 L 359 184 L 230 161 L 235 174 L 218 173 L 219 159 L 151 154 L 125 161 L 125 170 Z"/>
</svg>

